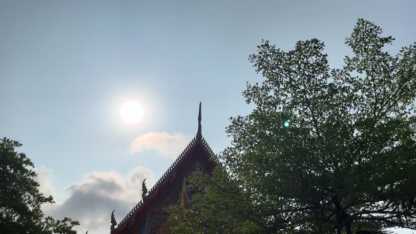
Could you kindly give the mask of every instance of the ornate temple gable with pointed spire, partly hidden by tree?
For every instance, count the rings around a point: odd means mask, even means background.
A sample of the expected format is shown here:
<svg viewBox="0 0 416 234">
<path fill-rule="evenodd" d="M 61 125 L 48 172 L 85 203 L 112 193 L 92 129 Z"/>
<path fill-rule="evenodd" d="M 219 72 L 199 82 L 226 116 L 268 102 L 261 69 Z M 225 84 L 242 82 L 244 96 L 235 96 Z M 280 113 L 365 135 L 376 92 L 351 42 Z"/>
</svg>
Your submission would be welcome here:
<svg viewBox="0 0 416 234">
<path fill-rule="evenodd" d="M 146 185 L 143 182 L 142 200 L 118 225 L 113 211 L 110 234 L 170 234 L 173 224 L 167 220 L 169 214 L 165 212 L 164 208 L 178 203 L 187 206 L 193 191 L 191 191 L 186 178 L 194 171 L 203 171 L 209 174 L 218 163 L 217 157 L 202 137 L 201 128 L 200 102 L 196 136 L 147 195 Z"/>
</svg>

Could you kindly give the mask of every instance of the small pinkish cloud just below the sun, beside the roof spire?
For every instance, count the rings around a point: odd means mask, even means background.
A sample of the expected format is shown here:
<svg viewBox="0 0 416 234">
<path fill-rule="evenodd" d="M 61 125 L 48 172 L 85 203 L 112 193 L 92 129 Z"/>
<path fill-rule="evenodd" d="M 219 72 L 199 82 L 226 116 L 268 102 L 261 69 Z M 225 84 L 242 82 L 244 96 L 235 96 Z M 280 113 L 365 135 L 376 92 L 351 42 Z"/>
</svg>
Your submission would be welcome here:
<svg viewBox="0 0 416 234">
<path fill-rule="evenodd" d="M 131 153 L 154 150 L 163 156 L 176 158 L 187 146 L 189 139 L 183 134 L 148 132 L 131 143 Z"/>
</svg>

